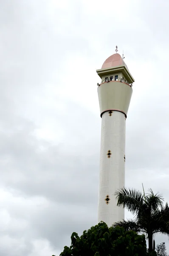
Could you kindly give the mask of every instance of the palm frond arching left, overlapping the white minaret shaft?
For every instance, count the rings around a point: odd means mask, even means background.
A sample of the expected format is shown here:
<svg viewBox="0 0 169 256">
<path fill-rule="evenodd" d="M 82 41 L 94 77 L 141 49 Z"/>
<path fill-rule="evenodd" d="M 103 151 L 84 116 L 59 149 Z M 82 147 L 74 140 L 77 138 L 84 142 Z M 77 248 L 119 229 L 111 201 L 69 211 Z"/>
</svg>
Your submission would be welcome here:
<svg viewBox="0 0 169 256">
<path fill-rule="evenodd" d="M 127 208 L 133 214 L 137 214 L 138 210 L 144 203 L 143 195 L 136 189 L 122 188 L 115 192 L 117 205 Z"/>
</svg>

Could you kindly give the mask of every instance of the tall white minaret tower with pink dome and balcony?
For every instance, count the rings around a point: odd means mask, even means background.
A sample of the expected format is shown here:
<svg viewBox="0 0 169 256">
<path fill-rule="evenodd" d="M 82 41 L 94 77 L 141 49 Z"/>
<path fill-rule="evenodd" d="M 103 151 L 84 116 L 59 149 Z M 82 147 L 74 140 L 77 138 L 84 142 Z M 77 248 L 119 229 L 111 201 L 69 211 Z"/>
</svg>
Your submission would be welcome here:
<svg viewBox="0 0 169 256">
<path fill-rule="evenodd" d="M 101 113 L 101 153 L 98 222 L 109 227 L 124 219 L 124 209 L 117 207 L 115 191 L 124 187 L 125 128 L 134 79 L 124 58 L 117 53 L 96 70 L 101 78 L 98 96 Z"/>
</svg>

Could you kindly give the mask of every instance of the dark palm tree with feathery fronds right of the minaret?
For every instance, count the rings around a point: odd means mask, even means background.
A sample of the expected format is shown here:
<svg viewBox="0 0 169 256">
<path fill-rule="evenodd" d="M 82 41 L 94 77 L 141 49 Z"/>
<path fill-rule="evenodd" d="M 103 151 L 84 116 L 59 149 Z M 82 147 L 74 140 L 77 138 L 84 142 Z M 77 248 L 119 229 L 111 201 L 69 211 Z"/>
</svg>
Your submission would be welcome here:
<svg viewBox="0 0 169 256">
<path fill-rule="evenodd" d="M 115 192 L 115 196 L 117 205 L 132 212 L 134 220 L 119 221 L 113 227 L 118 225 L 125 230 L 146 233 L 150 252 L 153 250 L 152 240 L 155 233 L 169 236 L 169 206 L 167 203 L 163 206 L 163 197 L 159 193 L 154 195 L 152 189 L 149 189 L 149 193 L 145 195 L 135 189 L 122 188 Z"/>
</svg>

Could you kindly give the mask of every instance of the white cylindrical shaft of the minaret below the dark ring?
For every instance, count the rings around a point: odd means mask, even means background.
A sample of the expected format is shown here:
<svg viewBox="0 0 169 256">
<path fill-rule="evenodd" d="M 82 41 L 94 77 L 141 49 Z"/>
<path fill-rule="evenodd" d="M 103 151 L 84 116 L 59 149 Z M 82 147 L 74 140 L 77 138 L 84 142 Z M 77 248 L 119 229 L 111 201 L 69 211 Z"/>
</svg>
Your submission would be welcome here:
<svg viewBox="0 0 169 256">
<path fill-rule="evenodd" d="M 124 186 L 125 180 L 125 125 L 124 113 L 102 114 L 98 222 L 104 221 L 109 227 L 124 219 L 124 209 L 117 207 L 114 193 Z M 110 158 L 108 150 L 112 153 Z M 107 195 L 109 204 L 104 200 Z"/>
</svg>

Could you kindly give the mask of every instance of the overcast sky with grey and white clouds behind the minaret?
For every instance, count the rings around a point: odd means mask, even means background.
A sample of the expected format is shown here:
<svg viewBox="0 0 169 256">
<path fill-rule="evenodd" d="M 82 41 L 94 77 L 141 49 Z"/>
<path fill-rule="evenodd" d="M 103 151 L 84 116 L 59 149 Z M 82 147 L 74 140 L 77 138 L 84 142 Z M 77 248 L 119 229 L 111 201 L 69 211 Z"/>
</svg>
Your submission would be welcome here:
<svg viewBox="0 0 169 256">
<path fill-rule="evenodd" d="M 0 0 L 0 256 L 59 255 L 97 223 L 96 69 L 116 45 L 135 79 L 126 186 L 169 201 L 168 13 L 166 0 Z"/>
</svg>

